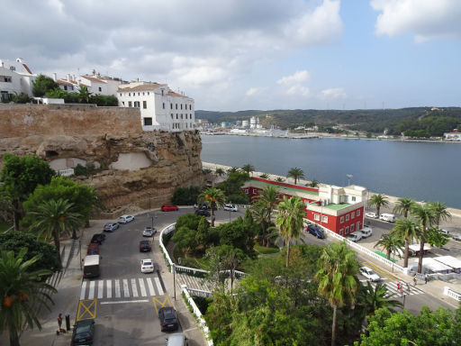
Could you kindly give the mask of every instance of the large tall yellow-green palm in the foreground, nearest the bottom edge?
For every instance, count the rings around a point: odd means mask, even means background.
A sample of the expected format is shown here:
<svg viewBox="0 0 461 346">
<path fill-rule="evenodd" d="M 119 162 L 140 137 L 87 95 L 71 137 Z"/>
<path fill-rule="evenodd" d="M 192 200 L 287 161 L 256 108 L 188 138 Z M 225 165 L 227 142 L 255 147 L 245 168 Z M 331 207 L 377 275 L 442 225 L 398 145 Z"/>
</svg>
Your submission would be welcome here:
<svg viewBox="0 0 461 346">
<path fill-rule="evenodd" d="M 333 308 L 331 346 L 335 346 L 338 308 L 346 303 L 355 304 L 358 263 L 355 252 L 348 250 L 345 242 L 330 243 L 321 253 L 319 267 L 314 278 L 319 282 L 319 294 L 328 299 Z"/>
</svg>

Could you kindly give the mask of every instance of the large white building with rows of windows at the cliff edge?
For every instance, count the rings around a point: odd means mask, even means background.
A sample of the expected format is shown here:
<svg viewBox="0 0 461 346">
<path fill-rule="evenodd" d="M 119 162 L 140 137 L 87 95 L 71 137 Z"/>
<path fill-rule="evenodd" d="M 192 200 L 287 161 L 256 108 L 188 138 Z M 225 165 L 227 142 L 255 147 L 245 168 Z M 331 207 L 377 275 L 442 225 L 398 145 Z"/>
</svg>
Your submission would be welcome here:
<svg viewBox="0 0 461 346">
<path fill-rule="evenodd" d="M 140 120 L 144 131 L 194 130 L 194 99 L 171 91 L 166 84 L 121 84 L 117 98 L 120 106 L 140 108 Z"/>
</svg>

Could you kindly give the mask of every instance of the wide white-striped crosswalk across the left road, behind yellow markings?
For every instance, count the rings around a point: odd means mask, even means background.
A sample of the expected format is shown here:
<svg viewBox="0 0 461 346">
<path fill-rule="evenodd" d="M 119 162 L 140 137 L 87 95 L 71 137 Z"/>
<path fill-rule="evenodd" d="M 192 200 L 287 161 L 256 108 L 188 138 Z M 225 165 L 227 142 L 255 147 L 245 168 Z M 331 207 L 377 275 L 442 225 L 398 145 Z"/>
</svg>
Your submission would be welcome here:
<svg viewBox="0 0 461 346">
<path fill-rule="evenodd" d="M 164 295 L 158 277 L 84 281 L 80 287 L 80 300 Z"/>
</svg>

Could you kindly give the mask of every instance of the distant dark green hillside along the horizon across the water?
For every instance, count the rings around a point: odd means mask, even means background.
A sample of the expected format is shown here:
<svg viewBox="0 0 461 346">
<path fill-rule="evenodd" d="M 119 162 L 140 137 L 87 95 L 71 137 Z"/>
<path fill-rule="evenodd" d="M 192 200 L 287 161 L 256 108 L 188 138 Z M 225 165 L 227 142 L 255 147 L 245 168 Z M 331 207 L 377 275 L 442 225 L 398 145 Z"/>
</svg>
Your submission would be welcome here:
<svg viewBox="0 0 461 346">
<path fill-rule="evenodd" d="M 271 110 L 271 111 L 240 111 L 212 112 L 195 111 L 195 118 L 206 119 L 210 123 L 236 122 L 249 120 L 258 116 L 264 126 L 275 125 L 283 129 L 293 129 L 297 126 L 312 126 L 330 128 L 336 125 L 351 131 L 382 133 L 385 129 L 389 134 L 416 134 L 420 137 L 440 136 L 443 132 L 461 129 L 461 108 L 431 108 L 414 107 L 402 109 L 357 109 L 351 111 L 339 110 Z"/>
</svg>

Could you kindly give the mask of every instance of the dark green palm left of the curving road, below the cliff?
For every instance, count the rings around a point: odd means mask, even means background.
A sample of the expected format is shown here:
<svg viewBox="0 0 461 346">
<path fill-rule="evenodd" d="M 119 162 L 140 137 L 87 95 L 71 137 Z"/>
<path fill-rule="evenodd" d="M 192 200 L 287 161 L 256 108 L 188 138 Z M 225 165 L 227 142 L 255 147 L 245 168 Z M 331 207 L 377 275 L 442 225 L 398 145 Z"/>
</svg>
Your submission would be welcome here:
<svg viewBox="0 0 461 346">
<path fill-rule="evenodd" d="M 29 214 L 35 217 L 32 230 L 37 231 L 45 240 L 52 238 L 59 256 L 60 236 L 70 234 L 85 222 L 82 214 L 74 212 L 74 204 L 61 198 L 45 201 Z"/>
</svg>

